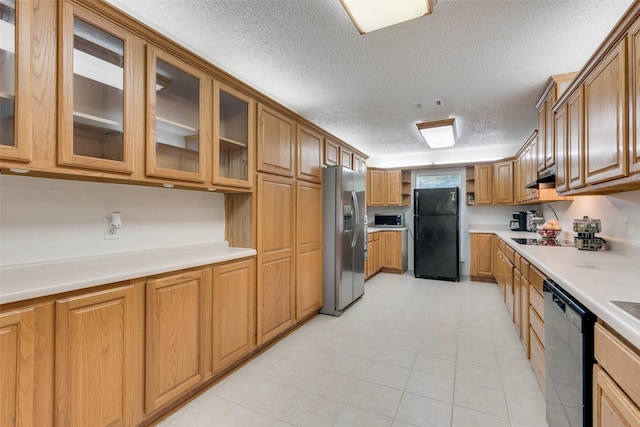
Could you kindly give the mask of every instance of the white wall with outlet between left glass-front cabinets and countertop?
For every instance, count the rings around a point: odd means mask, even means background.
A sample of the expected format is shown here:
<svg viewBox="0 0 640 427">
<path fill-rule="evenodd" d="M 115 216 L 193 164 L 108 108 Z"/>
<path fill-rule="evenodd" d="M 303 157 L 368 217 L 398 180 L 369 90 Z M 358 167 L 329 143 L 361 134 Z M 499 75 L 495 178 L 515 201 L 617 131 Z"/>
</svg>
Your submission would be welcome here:
<svg viewBox="0 0 640 427">
<path fill-rule="evenodd" d="M 105 240 L 113 211 L 120 238 Z M 222 194 L 0 175 L 0 265 L 222 240 Z"/>
</svg>

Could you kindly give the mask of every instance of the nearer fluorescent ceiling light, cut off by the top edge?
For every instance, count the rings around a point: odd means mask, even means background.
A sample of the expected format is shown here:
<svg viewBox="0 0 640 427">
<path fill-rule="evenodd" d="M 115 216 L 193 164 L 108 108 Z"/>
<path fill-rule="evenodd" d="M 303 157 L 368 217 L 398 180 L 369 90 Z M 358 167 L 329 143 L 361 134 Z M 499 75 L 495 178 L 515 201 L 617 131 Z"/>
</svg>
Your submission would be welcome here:
<svg viewBox="0 0 640 427">
<path fill-rule="evenodd" d="M 360 34 L 410 21 L 433 11 L 435 0 L 340 0 Z"/>
</svg>

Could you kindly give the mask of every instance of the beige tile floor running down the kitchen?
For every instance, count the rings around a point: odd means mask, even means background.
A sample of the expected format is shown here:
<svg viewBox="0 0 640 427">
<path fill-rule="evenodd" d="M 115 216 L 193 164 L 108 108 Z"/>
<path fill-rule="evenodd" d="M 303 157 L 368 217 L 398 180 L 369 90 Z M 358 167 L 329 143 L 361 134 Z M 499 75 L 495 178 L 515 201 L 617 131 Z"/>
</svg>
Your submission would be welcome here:
<svg viewBox="0 0 640 427">
<path fill-rule="evenodd" d="M 546 427 L 495 284 L 378 274 L 159 424 Z"/>
</svg>

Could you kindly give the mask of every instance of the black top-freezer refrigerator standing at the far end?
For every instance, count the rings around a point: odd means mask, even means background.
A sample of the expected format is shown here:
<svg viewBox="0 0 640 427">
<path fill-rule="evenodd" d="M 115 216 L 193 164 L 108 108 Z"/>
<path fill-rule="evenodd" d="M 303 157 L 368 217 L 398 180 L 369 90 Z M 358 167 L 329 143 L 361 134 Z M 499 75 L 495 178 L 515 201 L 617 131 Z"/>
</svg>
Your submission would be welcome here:
<svg viewBox="0 0 640 427">
<path fill-rule="evenodd" d="M 416 189 L 413 193 L 413 271 L 424 279 L 460 278 L 459 189 Z"/>
</svg>

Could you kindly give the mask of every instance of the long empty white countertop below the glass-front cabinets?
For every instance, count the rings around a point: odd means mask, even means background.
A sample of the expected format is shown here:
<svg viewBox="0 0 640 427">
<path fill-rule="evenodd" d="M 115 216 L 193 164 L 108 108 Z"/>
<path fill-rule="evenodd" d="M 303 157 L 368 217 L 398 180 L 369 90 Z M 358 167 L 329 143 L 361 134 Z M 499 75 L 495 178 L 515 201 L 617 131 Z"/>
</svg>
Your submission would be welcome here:
<svg viewBox="0 0 640 427">
<path fill-rule="evenodd" d="M 253 256 L 226 241 L 0 267 L 0 304 Z"/>
</svg>

